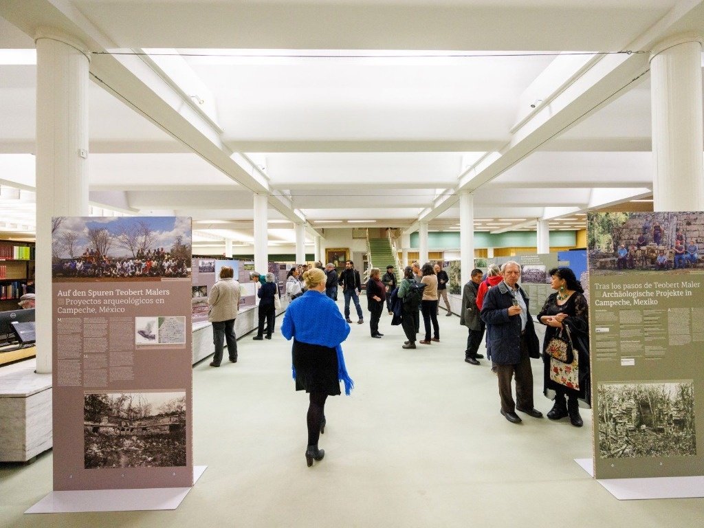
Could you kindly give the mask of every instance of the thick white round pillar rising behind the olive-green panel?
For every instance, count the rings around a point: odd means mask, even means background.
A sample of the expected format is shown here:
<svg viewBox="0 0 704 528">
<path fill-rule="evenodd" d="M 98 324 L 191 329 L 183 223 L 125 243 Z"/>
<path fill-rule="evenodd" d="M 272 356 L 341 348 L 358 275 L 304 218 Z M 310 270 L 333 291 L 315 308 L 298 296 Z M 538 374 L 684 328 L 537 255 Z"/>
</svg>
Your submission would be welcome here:
<svg viewBox="0 0 704 528">
<path fill-rule="evenodd" d="M 698 35 L 680 35 L 650 56 L 656 211 L 704 209 L 701 52 Z"/>
</svg>

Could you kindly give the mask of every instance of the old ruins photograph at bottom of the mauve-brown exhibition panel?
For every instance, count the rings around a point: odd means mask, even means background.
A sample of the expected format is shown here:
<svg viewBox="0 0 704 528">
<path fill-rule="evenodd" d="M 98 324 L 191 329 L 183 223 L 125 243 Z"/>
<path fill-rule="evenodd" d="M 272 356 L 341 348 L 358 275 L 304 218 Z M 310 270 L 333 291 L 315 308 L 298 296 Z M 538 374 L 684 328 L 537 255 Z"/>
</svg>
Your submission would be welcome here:
<svg viewBox="0 0 704 528">
<path fill-rule="evenodd" d="M 85 393 L 84 467 L 186 465 L 186 393 Z"/>
</svg>

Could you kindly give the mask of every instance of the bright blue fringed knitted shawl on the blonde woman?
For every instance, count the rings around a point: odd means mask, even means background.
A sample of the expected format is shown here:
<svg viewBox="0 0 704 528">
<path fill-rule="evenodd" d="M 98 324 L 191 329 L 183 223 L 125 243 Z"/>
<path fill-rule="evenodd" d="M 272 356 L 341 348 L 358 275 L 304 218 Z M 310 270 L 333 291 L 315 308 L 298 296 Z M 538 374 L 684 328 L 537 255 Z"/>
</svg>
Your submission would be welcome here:
<svg viewBox="0 0 704 528">
<path fill-rule="evenodd" d="M 327 346 L 337 351 L 337 379 L 345 384 L 345 394 L 350 395 L 354 382 L 347 374 L 341 343 L 350 333 L 350 325 L 342 317 L 337 304 L 319 291 L 308 290 L 289 303 L 281 333 L 286 339 L 312 345 Z M 291 365 L 294 379 L 296 369 Z"/>
</svg>

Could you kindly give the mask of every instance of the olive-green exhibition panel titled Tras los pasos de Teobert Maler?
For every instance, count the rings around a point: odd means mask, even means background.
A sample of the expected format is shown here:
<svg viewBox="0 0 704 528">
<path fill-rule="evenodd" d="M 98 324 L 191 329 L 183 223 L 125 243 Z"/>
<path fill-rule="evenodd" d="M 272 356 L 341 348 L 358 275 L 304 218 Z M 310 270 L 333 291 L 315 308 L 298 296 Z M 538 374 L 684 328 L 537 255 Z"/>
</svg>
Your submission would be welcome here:
<svg viewBox="0 0 704 528">
<path fill-rule="evenodd" d="M 594 476 L 704 474 L 704 213 L 588 216 Z"/>
</svg>

